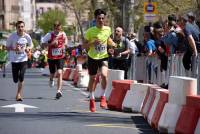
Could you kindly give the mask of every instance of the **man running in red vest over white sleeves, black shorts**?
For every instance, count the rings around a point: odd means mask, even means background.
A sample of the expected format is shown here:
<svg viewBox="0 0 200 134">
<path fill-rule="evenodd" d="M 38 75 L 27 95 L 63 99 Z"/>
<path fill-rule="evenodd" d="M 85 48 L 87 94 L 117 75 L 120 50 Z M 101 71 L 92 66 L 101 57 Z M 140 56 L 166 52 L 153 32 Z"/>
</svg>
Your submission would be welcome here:
<svg viewBox="0 0 200 134">
<path fill-rule="evenodd" d="M 62 75 L 65 56 L 65 45 L 67 45 L 67 36 L 62 31 L 59 21 L 54 23 L 54 31 L 47 33 L 42 39 L 42 46 L 48 46 L 48 64 L 50 71 L 49 86 L 54 86 L 54 75 L 57 70 L 57 93 L 56 99 L 62 97 Z"/>
</svg>

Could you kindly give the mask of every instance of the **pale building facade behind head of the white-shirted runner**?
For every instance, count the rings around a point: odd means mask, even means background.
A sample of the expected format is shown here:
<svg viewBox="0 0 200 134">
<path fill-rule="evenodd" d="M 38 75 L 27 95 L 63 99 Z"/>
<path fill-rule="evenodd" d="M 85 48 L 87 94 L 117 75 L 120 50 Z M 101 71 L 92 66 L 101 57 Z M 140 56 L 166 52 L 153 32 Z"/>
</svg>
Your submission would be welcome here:
<svg viewBox="0 0 200 134">
<path fill-rule="evenodd" d="M 0 30 L 14 30 L 18 20 L 25 22 L 26 30 L 35 29 L 35 0 L 0 0 Z"/>
</svg>

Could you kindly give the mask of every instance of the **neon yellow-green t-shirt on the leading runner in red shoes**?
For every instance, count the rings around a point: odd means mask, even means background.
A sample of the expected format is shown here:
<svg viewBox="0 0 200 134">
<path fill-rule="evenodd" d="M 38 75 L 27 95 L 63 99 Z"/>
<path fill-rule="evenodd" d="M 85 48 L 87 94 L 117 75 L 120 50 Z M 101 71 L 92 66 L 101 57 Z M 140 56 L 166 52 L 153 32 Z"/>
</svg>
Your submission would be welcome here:
<svg viewBox="0 0 200 134">
<path fill-rule="evenodd" d="M 108 57 L 107 52 L 107 41 L 111 35 L 111 29 L 108 26 L 103 26 L 103 28 L 91 27 L 86 31 L 85 39 L 89 41 L 90 47 L 88 51 L 88 56 L 92 59 L 103 59 Z M 95 45 L 96 39 L 100 41 L 100 44 Z"/>
</svg>

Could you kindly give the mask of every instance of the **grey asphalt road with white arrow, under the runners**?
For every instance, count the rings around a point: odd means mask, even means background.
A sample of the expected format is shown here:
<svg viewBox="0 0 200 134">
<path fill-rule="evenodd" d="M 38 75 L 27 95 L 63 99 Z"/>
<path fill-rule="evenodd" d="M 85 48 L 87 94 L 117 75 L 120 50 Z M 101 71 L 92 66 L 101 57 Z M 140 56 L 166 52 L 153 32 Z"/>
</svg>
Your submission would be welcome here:
<svg viewBox="0 0 200 134">
<path fill-rule="evenodd" d="M 88 109 L 88 92 L 65 81 L 63 97 L 55 100 L 56 88 L 40 69 L 28 69 L 22 102 L 15 101 L 17 85 L 11 69 L 0 72 L 0 134 L 154 134 L 141 114 Z M 14 108 L 15 107 L 15 108 Z M 24 108 L 25 107 L 25 108 Z"/>
</svg>

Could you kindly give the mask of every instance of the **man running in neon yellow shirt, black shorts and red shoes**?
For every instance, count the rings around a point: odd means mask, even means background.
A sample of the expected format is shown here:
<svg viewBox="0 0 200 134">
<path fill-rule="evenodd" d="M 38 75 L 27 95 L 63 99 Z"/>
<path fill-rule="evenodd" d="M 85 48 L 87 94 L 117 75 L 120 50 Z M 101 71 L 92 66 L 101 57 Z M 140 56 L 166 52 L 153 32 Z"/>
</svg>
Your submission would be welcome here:
<svg viewBox="0 0 200 134">
<path fill-rule="evenodd" d="M 89 28 L 85 34 L 83 48 L 88 50 L 88 70 L 90 75 L 88 89 L 90 92 L 90 111 L 95 112 L 95 87 L 97 71 L 101 73 L 101 101 L 100 106 L 106 108 L 105 89 L 108 81 L 108 52 L 107 45 L 114 43 L 110 39 L 111 29 L 105 26 L 106 12 L 97 9 L 94 12 L 96 26 Z"/>
</svg>

